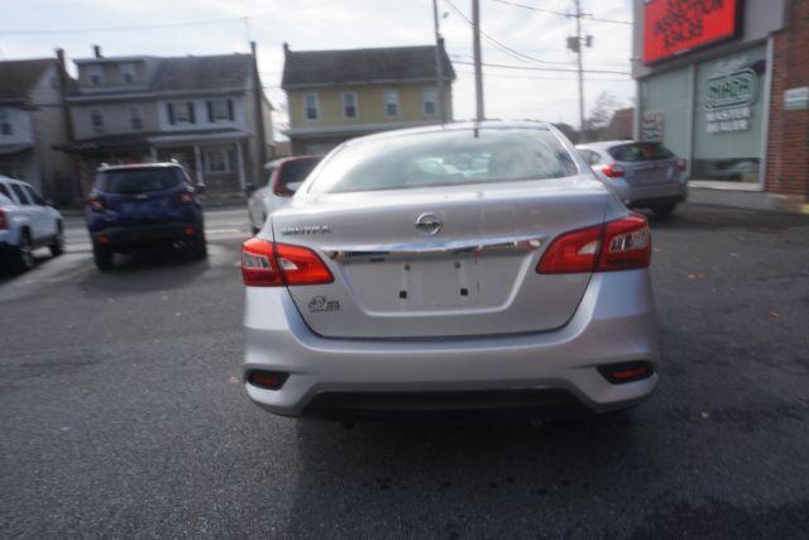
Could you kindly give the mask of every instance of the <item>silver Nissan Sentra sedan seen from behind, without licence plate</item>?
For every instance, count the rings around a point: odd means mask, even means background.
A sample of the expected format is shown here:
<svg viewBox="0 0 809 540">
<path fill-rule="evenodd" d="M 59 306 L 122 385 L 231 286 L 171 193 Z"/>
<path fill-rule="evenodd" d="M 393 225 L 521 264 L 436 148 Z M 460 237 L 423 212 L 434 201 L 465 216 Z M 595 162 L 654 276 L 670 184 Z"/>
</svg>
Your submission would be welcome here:
<svg viewBox="0 0 809 540">
<path fill-rule="evenodd" d="M 279 415 L 629 406 L 658 380 L 646 219 L 552 126 L 345 142 L 244 244 L 244 381 Z"/>
</svg>

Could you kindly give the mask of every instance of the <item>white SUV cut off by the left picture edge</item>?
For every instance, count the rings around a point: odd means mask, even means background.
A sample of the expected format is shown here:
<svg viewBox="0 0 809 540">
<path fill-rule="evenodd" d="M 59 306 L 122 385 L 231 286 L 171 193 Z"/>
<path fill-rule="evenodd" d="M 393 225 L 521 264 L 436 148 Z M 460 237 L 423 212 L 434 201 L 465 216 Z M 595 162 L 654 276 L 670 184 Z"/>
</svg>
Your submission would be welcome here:
<svg viewBox="0 0 809 540">
<path fill-rule="evenodd" d="M 26 182 L 0 176 L 0 256 L 2 268 L 24 272 L 34 266 L 33 252 L 47 247 L 53 257 L 65 250 L 61 214 Z"/>
</svg>

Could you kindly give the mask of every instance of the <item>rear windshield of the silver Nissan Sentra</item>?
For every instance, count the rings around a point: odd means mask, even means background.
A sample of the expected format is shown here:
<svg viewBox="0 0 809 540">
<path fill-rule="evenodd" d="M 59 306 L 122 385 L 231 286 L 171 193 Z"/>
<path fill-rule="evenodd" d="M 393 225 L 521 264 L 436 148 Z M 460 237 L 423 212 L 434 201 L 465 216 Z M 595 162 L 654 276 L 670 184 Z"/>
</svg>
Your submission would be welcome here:
<svg viewBox="0 0 809 540">
<path fill-rule="evenodd" d="M 449 130 L 349 142 L 318 168 L 310 192 L 541 180 L 577 173 L 574 159 L 549 130 Z"/>
</svg>

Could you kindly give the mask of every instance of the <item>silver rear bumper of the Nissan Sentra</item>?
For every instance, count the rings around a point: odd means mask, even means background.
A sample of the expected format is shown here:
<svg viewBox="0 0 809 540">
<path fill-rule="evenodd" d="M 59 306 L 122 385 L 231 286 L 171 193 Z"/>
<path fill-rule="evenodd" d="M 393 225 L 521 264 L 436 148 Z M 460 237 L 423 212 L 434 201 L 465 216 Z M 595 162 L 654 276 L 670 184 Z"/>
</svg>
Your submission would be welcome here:
<svg viewBox="0 0 809 540">
<path fill-rule="evenodd" d="M 597 367 L 637 360 L 659 361 L 648 270 L 594 274 L 574 317 L 559 330 L 492 338 L 321 338 L 286 289 L 247 291 L 245 372 L 290 376 L 279 390 L 245 386 L 254 402 L 279 415 L 307 414 L 334 394 L 517 390 L 562 391 L 604 412 L 645 398 L 658 375 L 615 385 Z"/>
</svg>

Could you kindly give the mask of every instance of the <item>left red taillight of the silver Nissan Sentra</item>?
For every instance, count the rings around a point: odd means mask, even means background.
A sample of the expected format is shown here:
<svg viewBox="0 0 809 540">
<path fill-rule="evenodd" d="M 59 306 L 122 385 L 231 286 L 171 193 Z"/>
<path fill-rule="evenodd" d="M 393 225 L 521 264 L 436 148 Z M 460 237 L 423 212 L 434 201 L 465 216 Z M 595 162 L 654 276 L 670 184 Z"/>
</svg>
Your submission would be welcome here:
<svg viewBox="0 0 809 540">
<path fill-rule="evenodd" d="M 311 249 L 260 238 L 244 243 L 242 278 L 249 287 L 323 285 L 334 281 L 328 267 Z"/>
</svg>

